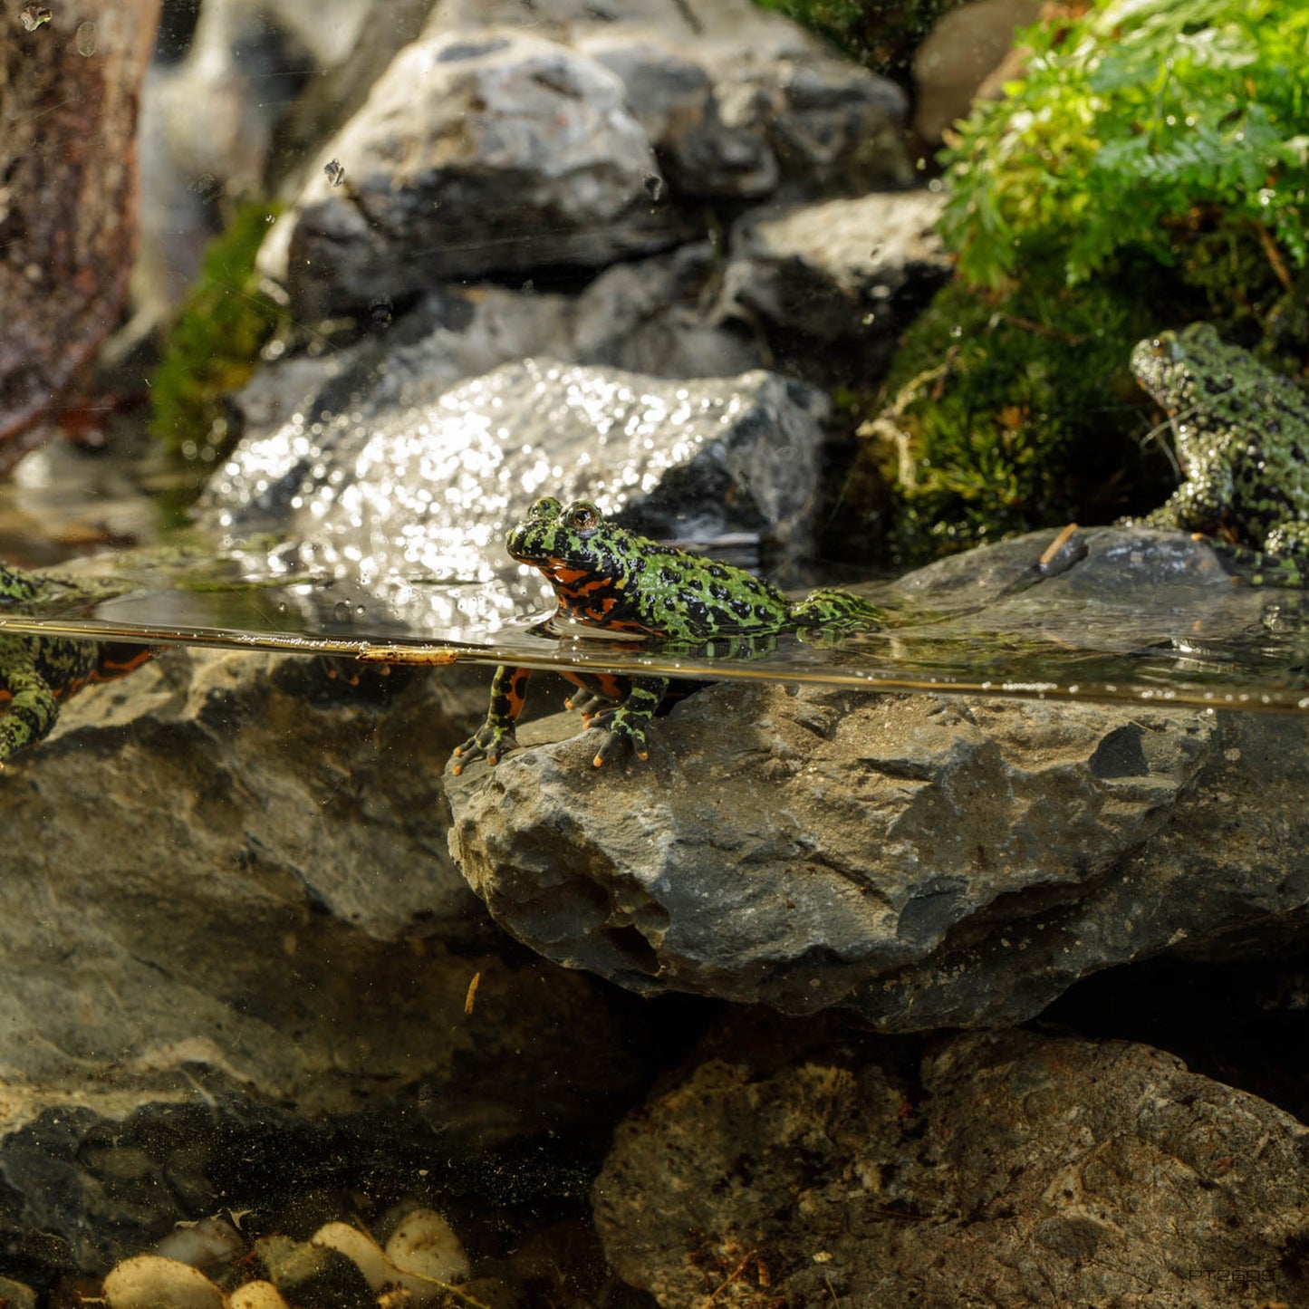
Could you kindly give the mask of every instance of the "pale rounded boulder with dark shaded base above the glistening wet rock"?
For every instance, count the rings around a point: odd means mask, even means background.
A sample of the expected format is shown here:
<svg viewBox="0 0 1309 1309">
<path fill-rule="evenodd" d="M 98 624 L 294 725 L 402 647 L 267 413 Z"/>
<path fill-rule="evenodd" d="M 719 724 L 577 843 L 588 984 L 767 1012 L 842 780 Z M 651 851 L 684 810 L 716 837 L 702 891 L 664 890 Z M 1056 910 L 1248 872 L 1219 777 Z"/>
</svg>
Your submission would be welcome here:
<svg viewBox="0 0 1309 1309">
<path fill-rule="evenodd" d="M 415 42 L 326 147 L 270 238 L 301 313 L 446 279 L 602 266 L 673 245 L 658 164 L 603 65 L 520 31 Z M 284 258 L 268 264 L 275 251 Z"/>
</svg>

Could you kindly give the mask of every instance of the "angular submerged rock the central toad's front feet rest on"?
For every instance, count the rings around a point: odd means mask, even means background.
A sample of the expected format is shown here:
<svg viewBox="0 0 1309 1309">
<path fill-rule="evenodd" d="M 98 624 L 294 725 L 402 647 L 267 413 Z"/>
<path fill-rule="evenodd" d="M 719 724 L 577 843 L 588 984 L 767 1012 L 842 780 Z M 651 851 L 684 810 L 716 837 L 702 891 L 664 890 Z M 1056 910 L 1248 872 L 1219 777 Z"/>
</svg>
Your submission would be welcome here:
<svg viewBox="0 0 1309 1309">
<path fill-rule="evenodd" d="M 639 991 L 889 1030 L 1058 995 L 1039 911 L 1103 893 L 1215 750 L 1198 713 L 927 695 L 724 685 L 677 717 L 645 767 L 597 772 L 575 738 L 448 774 L 473 888 L 533 949 Z"/>
</svg>

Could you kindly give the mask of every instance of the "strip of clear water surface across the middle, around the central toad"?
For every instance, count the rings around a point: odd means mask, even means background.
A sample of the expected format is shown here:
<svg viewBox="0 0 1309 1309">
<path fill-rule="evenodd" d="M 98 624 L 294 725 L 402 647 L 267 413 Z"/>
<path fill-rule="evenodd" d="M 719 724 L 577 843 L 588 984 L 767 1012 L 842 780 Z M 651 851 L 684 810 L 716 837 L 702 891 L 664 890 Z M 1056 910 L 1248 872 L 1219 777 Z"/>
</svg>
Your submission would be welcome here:
<svg viewBox="0 0 1309 1309">
<path fill-rule="evenodd" d="M 1309 611 L 1299 592 L 1127 585 L 1113 600 L 1037 588 L 986 605 L 952 593 L 924 610 L 895 583 L 852 589 L 884 609 L 878 631 L 802 641 L 686 645 L 558 624 L 550 609 L 509 622 L 442 626 L 470 588 L 432 583 L 425 606 L 391 603 L 335 579 L 241 581 L 236 564 L 130 564 L 101 600 L 0 613 L 0 631 L 140 640 L 442 668 L 512 664 L 778 681 L 869 691 L 933 691 L 1264 712 L 1309 712 Z M 105 573 L 105 563 L 99 567 Z M 153 583 L 153 584 L 152 584 Z M 120 589 L 126 588 L 126 589 Z M 407 589 L 407 588 L 406 588 Z M 503 603 L 508 601 L 501 597 Z M 1240 605 L 1233 611 L 1233 605 Z M 500 607 L 500 605 L 495 606 Z M 511 606 L 512 607 L 512 606 Z"/>
</svg>

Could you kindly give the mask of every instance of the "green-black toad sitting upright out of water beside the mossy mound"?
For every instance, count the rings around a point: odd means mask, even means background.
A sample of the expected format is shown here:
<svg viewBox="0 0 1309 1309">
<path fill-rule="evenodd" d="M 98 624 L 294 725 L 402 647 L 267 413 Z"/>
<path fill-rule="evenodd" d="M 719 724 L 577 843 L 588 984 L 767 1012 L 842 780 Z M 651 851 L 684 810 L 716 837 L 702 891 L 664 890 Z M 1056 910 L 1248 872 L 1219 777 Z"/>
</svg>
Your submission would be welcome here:
<svg viewBox="0 0 1309 1309">
<path fill-rule="evenodd" d="M 1172 419 L 1186 480 L 1144 522 L 1215 538 L 1255 584 L 1309 579 L 1309 397 L 1211 323 L 1140 342 L 1132 373 Z"/>
</svg>

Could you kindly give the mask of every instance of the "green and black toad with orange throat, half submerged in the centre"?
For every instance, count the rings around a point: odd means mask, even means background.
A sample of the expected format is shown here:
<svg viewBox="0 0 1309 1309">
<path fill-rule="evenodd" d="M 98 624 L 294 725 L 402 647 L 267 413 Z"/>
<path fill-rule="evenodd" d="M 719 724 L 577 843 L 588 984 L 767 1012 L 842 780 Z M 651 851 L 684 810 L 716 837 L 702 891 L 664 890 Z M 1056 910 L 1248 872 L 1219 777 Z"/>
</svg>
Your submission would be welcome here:
<svg viewBox="0 0 1309 1309">
<path fill-rule="evenodd" d="M 546 575 L 560 617 L 611 632 L 702 644 L 881 626 L 881 611 L 857 596 L 823 589 L 789 600 L 744 568 L 661 546 L 606 522 L 589 500 L 567 508 L 550 496 L 538 500 L 511 529 L 505 545 L 514 559 Z M 496 669 L 486 721 L 454 751 L 461 761 L 452 770 L 456 775 L 462 761 L 484 757 L 493 764 L 517 745 L 514 724 L 530 675 L 526 668 Z M 583 691 L 568 707 L 581 711 L 586 728 L 607 732 L 592 761 L 596 767 L 627 746 L 644 759 L 647 724 L 678 694 L 670 692 L 669 678 L 563 675 Z"/>
</svg>

